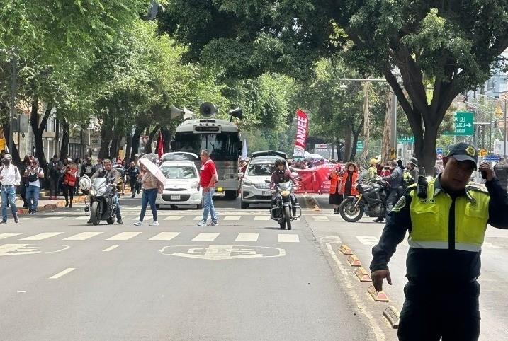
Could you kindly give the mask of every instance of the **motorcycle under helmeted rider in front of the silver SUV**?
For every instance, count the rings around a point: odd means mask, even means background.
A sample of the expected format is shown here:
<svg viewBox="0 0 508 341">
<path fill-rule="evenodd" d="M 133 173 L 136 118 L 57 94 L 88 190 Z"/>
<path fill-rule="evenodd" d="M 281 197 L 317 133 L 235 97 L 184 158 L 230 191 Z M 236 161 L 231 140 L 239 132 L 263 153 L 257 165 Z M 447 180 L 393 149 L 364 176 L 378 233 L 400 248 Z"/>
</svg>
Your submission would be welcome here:
<svg viewBox="0 0 508 341">
<path fill-rule="evenodd" d="M 271 184 L 270 180 L 265 180 L 265 183 Z M 302 216 L 302 209 L 299 205 L 295 205 L 292 197 L 294 192 L 294 185 L 292 181 L 286 183 L 278 183 L 274 192 L 274 204 L 270 209 L 271 219 L 278 222 L 281 229 L 291 229 L 291 221 Z M 293 214 L 293 212 L 295 214 Z"/>
</svg>

